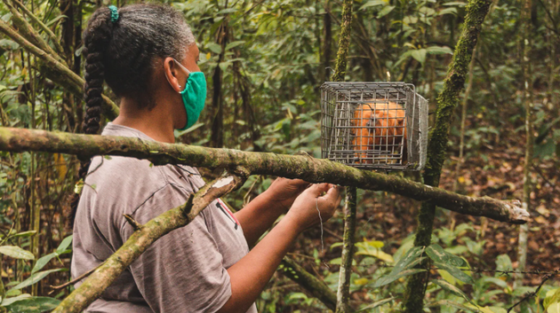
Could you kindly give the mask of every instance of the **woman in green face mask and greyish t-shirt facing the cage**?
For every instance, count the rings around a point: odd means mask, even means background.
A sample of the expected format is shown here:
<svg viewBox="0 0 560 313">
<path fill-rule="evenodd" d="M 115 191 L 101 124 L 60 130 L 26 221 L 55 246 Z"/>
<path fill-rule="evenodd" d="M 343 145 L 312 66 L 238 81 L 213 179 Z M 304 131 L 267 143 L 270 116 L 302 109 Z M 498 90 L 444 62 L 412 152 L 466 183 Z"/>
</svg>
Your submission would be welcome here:
<svg viewBox="0 0 560 313">
<path fill-rule="evenodd" d="M 206 86 L 196 66 L 194 36 L 168 6 L 100 8 L 84 31 L 84 56 L 86 133 L 100 128 L 103 81 L 121 101 L 119 116 L 102 135 L 173 143 L 173 129 L 190 127 L 204 106 Z M 74 222 L 75 278 L 132 235 L 124 214 L 147 223 L 204 185 L 196 168 L 188 166 L 98 156 L 81 173 L 88 167 Z M 338 187 L 288 179 L 277 179 L 235 215 L 215 200 L 186 227 L 158 239 L 88 311 L 256 312 L 254 301 L 292 242 L 319 223 L 316 209 L 326 220 L 339 203 Z"/>
</svg>

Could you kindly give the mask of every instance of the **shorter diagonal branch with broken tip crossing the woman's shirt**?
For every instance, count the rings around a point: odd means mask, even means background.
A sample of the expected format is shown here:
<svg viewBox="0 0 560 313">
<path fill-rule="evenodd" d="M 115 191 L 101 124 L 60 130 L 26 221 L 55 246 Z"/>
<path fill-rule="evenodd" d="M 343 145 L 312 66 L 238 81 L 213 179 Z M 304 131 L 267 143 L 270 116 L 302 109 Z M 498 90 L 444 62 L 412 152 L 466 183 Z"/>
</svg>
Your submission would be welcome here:
<svg viewBox="0 0 560 313">
<path fill-rule="evenodd" d="M 213 200 L 235 190 L 244 184 L 245 172 L 238 168 L 238 175 L 223 176 L 204 185 L 194 195 L 191 194 L 187 203 L 180 207 L 157 216 L 148 223 L 141 225 L 138 231 L 126 240 L 116 253 L 108 259 L 92 274 L 84 280 L 84 283 L 60 302 L 53 313 L 60 312 L 82 312 L 93 301 L 100 297 L 101 293 L 110 286 L 126 268 L 144 253 L 148 246 L 170 231 L 176 230 L 190 223 L 196 215 L 207 207 Z M 129 219 L 127 219 L 130 221 Z M 130 222 L 129 222 L 130 223 Z"/>
</svg>

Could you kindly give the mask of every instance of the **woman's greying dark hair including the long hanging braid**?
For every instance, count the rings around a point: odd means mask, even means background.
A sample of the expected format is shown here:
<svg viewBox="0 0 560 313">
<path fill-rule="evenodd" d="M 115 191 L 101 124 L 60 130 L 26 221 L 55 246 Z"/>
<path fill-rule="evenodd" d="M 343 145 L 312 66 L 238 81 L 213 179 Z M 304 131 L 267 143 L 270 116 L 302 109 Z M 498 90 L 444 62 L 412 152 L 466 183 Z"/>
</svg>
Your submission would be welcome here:
<svg viewBox="0 0 560 313">
<path fill-rule="evenodd" d="M 182 60 L 195 37 L 184 17 L 171 6 L 131 4 L 118 10 L 118 20 L 101 7 L 92 14 L 83 35 L 85 59 L 85 134 L 100 130 L 103 82 L 118 98 L 131 98 L 139 109 L 155 106 L 150 88 L 157 58 Z M 85 179 L 91 160 L 81 160 L 78 176 Z M 74 224 L 79 195 L 71 201 Z"/>
</svg>

